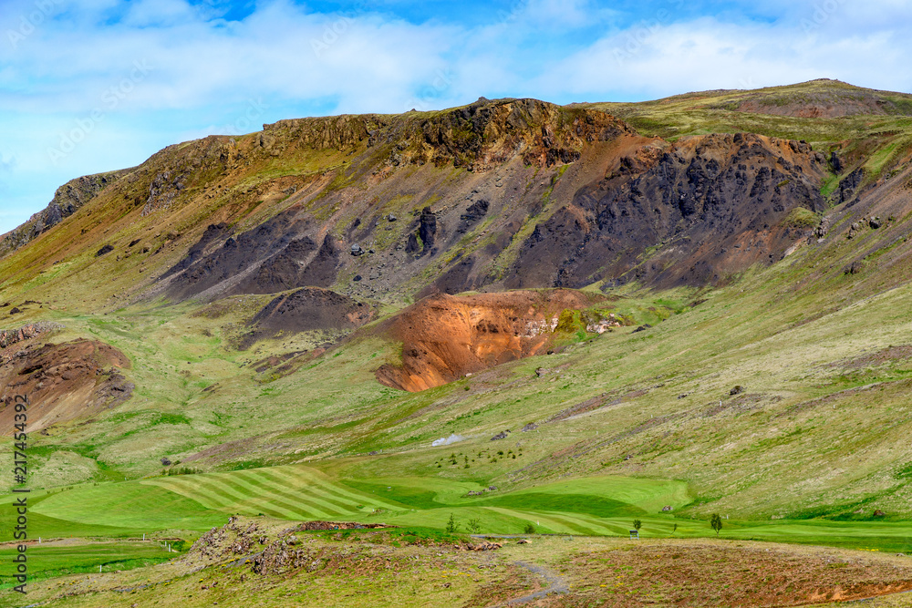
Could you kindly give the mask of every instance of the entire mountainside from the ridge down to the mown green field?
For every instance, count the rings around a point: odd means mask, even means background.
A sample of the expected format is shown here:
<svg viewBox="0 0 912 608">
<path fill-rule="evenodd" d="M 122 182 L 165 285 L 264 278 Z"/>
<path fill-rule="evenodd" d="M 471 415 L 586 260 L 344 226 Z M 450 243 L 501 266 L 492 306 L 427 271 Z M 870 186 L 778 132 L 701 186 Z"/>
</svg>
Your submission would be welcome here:
<svg viewBox="0 0 912 608">
<path fill-rule="evenodd" d="M 135 363 L 140 398 L 51 424 L 39 450 L 118 479 L 162 458 L 239 485 L 304 460 L 409 478 L 409 521 L 435 526 L 411 507 L 450 504 L 438 482 L 462 505 L 606 474 L 677 479 L 693 516 L 907 517 L 907 119 L 734 94 L 482 99 L 162 150 L 0 260 L 6 327 L 56 321 L 53 348 Z M 585 291 L 527 289 L 555 285 Z M 603 304 L 625 324 L 599 335 L 575 311 Z M 559 311 L 571 331 L 531 331 Z"/>
</svg>

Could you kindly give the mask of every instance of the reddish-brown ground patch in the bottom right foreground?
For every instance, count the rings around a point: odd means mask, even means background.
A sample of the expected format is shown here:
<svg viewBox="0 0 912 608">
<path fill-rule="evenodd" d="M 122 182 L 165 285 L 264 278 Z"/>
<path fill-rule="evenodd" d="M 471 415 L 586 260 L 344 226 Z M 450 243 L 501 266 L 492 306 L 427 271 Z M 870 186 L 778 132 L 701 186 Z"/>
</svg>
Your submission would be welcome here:
<svg viewBox="0 0 912 608">
<path fill-rule="evenodd" d="M 800 606 L 912 590 L 912 563 L 818 547 L 647 545 L 577 555 L 555 606 Z M 595 602 L 595 603 L 593 603 Z"/>
</svg>

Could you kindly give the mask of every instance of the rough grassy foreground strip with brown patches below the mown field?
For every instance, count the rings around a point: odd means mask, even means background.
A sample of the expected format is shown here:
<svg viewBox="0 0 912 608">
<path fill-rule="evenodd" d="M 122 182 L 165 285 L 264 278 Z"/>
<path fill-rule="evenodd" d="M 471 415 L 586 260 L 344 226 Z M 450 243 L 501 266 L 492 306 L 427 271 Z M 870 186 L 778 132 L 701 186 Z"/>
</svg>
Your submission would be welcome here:
<svg viewBox="0 0 912 608">
<path fill-rule="evenodd" d="M 726 539 L 533 537 L 501 540 L 497 551 L 461 551 L 464 536 L 427 529 L 297 532 L 289 553 L 308 568 L 277 562 L 264 571 L 238 561 L 233 546 L 256 524 L 255 545 L 284 537 L 287 524 L 241 518 L 215 551 L 189 551 L 152 568 L 63 575 L 34 583 L 29 602 L 92 607 L 158 605 L 441 606 L 502 605 L 539 590 L 554 605 L 817 605 L 842 597 L 865 605 L 909 605 L 908 558 L 796 544 Z M 526 538 L 529 538 L 526 535 Z M 252 549 L 251 551 L 258 551 Z M 267 549 L 268 551 L 268 549 Z M 291 575 L 294 572 L 294 575 Z M 0 605 L 22 605 L 0 595 Z M 11 602 L 13 600 L 14 602 Z"/>
</svg>

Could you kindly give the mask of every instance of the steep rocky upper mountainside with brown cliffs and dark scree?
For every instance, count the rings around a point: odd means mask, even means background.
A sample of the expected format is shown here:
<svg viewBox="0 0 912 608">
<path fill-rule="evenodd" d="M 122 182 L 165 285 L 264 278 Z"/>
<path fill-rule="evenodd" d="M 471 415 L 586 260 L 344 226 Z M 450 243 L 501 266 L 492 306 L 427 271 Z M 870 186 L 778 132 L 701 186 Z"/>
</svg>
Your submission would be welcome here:
<svg viewBox="0 0 912 608">
<path fill-rule="evenodd" d="M 7 291 L 109 310 L 306 286 L 397 305 L 699 286 L 781 258 L 791 214 L 823 209 L 825 167 L 800 141 L 671 143 L 531 99 L 286 120 L 162 150 L 0 270 Z"/>
</svg>

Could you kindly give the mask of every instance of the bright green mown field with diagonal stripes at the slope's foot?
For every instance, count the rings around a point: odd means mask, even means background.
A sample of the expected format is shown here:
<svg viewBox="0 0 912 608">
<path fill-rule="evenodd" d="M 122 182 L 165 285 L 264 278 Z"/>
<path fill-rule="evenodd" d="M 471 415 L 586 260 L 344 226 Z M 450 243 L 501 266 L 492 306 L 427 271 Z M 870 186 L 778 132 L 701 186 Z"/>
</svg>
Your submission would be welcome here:
<svg viewBox="0 0 912 608">
<path fill-rule="evenodd" d="M 45 538 L 203 531 L 240 514 L 439 530 L 453 517 L 461 532 L 519 534 L 532 525 L 539 533 L 580 536 L 626 536 L 640 520 L 644 538 L 713 535 L 706 520 L 675 516 L 692 500 L 680 481 L 602 476 L 466 496 L 482 489 L 448 479 L 333 479 L 285 465 L 52 492 L 36 497 L 30 530 Z M 666 505 L 671 512 L 661 512 Z M 721 537 L 912 551 L 912 522 L 725 519 Z"/>
</svg>

